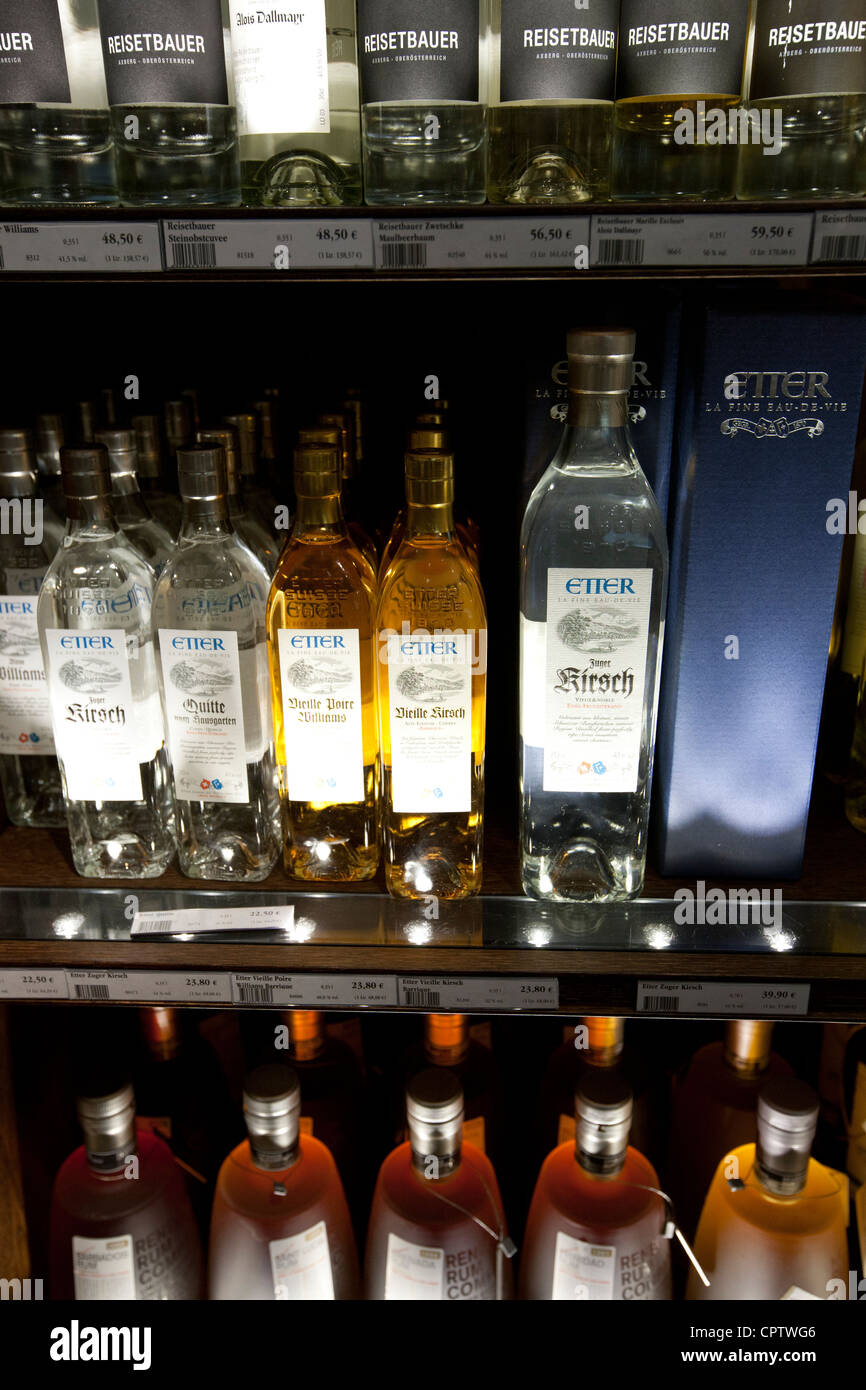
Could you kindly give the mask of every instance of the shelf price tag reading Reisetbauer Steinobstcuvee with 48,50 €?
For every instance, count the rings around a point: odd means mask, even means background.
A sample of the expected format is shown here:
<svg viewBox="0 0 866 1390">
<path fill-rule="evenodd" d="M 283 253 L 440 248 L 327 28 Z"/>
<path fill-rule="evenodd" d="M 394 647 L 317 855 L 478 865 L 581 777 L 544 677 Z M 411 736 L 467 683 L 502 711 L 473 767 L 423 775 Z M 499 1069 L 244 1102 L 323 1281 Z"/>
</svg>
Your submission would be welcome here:
<svg viewBox="0 0 866 1390">
<path fill-rule="evenodd" d="M 364 218 L 164 221 L 165 270 L 373 270 Z"/>
</svg>

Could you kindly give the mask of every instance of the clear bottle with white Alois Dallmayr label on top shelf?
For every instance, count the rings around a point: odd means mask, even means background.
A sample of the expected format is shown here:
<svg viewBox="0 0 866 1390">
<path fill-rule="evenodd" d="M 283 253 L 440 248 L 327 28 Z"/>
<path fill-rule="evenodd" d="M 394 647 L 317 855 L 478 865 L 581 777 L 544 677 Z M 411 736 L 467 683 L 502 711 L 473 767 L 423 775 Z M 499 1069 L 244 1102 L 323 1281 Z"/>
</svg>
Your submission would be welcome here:
<svg viewBox="0 0 866 1390">
<path fill-rule="evenodd" d="M 231 0 L 243 200 L 250 207 L 361 202 L 353 0 L 263 18 Z"/>
</svg>

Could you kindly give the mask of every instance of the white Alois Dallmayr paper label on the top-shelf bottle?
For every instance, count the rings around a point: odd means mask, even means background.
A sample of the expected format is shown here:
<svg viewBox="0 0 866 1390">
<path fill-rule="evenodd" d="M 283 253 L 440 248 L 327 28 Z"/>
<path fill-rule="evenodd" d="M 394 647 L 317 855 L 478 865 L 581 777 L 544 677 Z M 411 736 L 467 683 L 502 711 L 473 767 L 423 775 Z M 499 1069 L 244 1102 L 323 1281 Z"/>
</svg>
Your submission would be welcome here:
<svg viewBox="0 0 866 1390">
<path fill-rule="evenodd" d="M 229 0 L 240 135 L 327 135 L 325 0 L 284 10 Z"/>
</svg>

